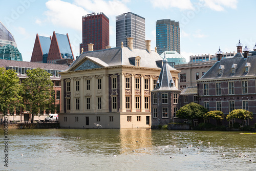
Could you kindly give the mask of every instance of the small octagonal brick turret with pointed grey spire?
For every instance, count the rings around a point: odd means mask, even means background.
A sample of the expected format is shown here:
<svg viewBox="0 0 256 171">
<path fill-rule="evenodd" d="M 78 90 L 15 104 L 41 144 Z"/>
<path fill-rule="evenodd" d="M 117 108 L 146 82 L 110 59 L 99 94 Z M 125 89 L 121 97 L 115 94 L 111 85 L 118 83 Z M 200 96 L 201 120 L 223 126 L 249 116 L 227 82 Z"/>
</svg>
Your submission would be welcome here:
<svg viewBox="0 0 256 171">
<path fill-rule="evenodd" d="M 164 57 L 157 86 L 151 91 L 152 127 L 174 122 L 176 112 L 180 108 L 180 91 L 175 87 L 167 62 Z"/>
</svg>

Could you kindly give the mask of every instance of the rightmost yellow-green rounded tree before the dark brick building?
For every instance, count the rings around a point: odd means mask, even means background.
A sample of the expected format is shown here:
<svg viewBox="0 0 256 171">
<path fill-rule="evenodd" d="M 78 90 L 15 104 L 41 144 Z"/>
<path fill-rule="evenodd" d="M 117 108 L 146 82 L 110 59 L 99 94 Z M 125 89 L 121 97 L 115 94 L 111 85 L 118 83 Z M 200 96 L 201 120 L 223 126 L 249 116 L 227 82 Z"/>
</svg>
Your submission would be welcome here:
<svg viewBox="0 0 256 171">
<path fill-rule="evenodd" d="M 234 119 L 234 118 L 241 119 L 241 120 L 252 119 L 253 114 L 252 112 L 246 111 L 244 109 L 235 109 L 231 111 L 226 118 L 227 118 L 227 121 L 230 121 L 231 119 Z"/>
</svg>

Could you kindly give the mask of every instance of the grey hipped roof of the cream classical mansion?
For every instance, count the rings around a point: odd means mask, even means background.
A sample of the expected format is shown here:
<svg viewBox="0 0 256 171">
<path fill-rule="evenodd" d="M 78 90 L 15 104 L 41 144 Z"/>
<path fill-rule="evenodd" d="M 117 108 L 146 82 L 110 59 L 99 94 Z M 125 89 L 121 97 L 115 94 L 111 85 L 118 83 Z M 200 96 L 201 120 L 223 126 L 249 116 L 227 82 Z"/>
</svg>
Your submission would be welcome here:
<svg viewBox="0 0 256 171">
<path fill-rule="evenodd" d="M 104 67 L 114 67 L 121 65 L 134 66 L 134 63 L 131 62 L 131 59 L 137 56 L 140 57 L 140 67 L 154 69 L 161 68 L 161 66 L 159 66 L 158 63 L 163 59 L 155 51 L 151 51 L 151 53 L 148 53 L 146 50 L 141 49 L 133 49 L 133 51 L 131 51 L 127 47 L 116 47 L 110 49 L 83 52 L 65 71 L 73 71 L 73 69 L 81 65 L 80 61 L 84 61 L 86 59 L 94 61 L 95 63 L 98 63 L 99 65 Z M 169 65 L 167 67 L 169 70 L 177 71 Z"/>
</svg>

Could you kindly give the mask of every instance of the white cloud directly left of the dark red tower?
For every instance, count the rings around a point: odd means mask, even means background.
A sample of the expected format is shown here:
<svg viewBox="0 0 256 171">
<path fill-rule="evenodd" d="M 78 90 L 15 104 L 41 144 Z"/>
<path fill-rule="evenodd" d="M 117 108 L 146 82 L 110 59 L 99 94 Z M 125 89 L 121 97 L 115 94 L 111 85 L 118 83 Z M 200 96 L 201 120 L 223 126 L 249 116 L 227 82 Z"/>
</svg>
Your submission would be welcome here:
<svg viewBox="0 0 256 171">
<path fill-rule="evenodd" d="M 82 30 L 81 18 L 88 13 L 83 8 L 60 0 L 50 0 L 46 7 L 45 14 L 54 25 Z"/>
</svg>

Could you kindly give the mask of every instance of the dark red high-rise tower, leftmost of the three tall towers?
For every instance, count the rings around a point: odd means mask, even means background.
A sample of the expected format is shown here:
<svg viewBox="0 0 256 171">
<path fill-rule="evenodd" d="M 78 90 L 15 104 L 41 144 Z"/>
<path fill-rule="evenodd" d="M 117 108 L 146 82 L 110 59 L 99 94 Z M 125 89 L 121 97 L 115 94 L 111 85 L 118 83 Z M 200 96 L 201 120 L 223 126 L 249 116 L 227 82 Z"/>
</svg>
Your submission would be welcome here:
<svg viewBox="0 0 256 171">
<path fill-rule="evenodd" d="M 94 50 L 105 49 L 110 44 L 109 18 L 102 12 L 87 14 L 82 17 L 82 44 L 83 51 L 88 51 L 88 44 L 94 44 Z"/>
</svg>

